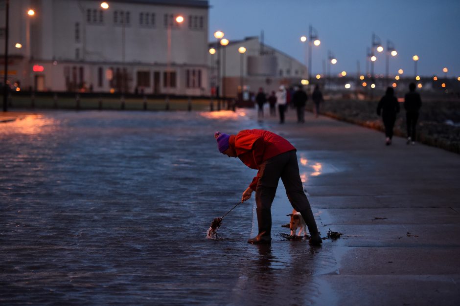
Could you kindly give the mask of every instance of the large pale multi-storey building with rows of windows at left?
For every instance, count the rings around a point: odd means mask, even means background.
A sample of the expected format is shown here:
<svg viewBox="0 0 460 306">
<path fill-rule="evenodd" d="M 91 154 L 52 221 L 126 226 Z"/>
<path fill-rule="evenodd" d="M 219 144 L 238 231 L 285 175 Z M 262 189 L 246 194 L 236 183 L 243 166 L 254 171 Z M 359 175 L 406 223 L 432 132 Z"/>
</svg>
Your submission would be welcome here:
<svg viewBox="0 0 460 306">
<path fill-rule="evenodd" d="M 38 91 L 209 92 L 207 0 L 107 0 L 107 9 L 101 2 L 10 0 L 10 84 Z M 0 27 L 4 59 L 4 5 Z"/>
</svg>

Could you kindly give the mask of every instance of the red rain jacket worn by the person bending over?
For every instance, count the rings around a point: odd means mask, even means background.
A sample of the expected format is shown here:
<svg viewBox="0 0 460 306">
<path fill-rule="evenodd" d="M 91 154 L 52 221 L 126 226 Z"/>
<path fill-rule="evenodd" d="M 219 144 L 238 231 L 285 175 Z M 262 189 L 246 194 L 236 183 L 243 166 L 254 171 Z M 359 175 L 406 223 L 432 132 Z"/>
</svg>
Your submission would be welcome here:
<svg viewBox="0 0 460 306">
<path fill-rule="evenodd" d="M 265 130 L 243 130 L 236 135 L 231 135 L 229 145 L 235 149 L 236 156 L 241 161 L 252 169 L 259 170 L 261 165 L 266 160 L 288 152 L 296 150 L 296 148 L 283 137 Z M 253 178 L 249 187 L 255 191 L 259 172 Z"/>
</svg>

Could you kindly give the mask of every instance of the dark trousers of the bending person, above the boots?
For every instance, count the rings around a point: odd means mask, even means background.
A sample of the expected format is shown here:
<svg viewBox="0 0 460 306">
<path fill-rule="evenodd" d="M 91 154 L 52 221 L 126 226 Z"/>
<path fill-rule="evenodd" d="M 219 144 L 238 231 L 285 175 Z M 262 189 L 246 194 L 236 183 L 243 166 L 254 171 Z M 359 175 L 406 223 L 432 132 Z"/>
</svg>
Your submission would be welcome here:
<svg viewBox="0 0 460 306">
<path fill-rule="evenodd" d="M 295 150 L 272 157 L 259 166 L 259 180 L 255 190 L 257 209 L 271 209 L 280 177 L 292 207 L 298 212 L 311 211 L 310 202 L 303 192 Z"/>
</svg>

